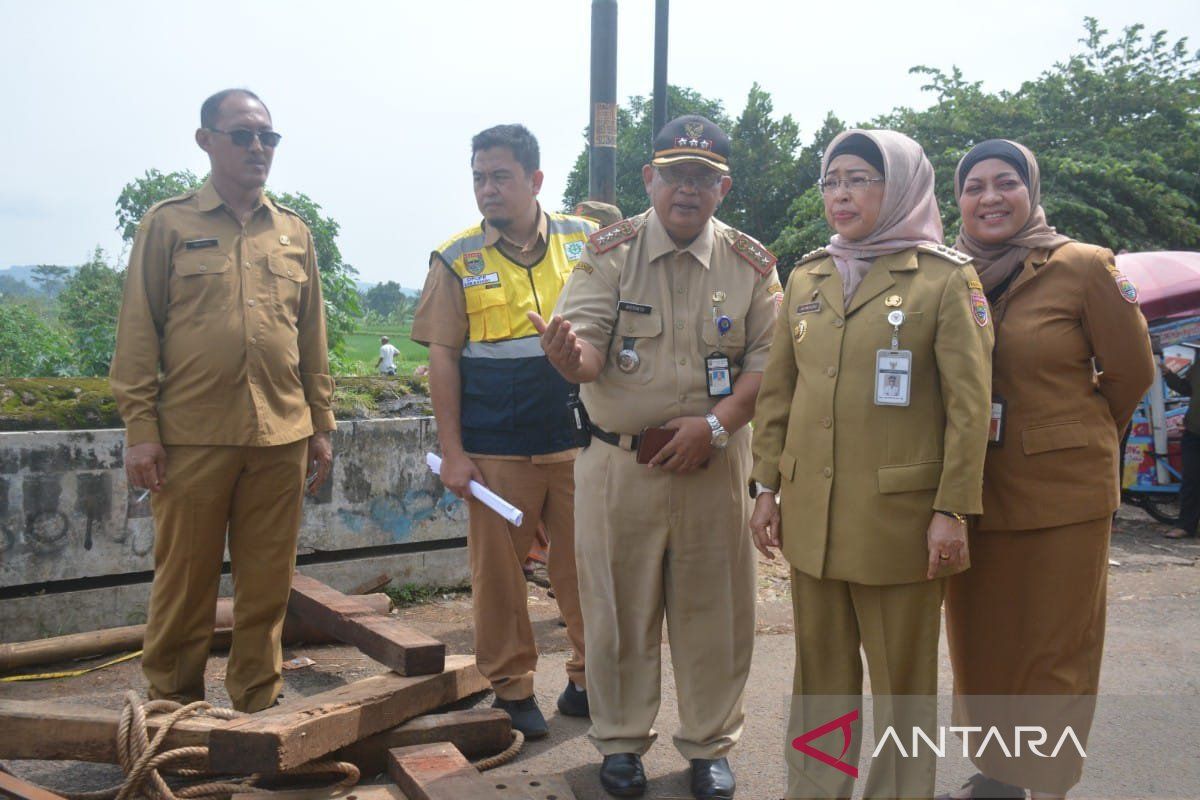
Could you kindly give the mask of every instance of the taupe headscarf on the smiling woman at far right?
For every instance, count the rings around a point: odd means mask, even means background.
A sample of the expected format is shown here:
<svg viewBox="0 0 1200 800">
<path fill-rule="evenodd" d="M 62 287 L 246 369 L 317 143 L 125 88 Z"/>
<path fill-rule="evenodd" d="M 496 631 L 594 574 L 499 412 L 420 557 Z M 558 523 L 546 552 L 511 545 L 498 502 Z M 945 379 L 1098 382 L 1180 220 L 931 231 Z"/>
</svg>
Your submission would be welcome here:
<svg viewBox="0 0 1200 800">
<path fill-rule="evenodd" d="M 1042 173 L 1038 169 L 1038 160 L 1033 157 L 1028 148 L 1016 142 L 988 139 L 971 148 L 962 156 L 959 166 L 954 169 L 954 200 L 959 203 L 959 207 L 962 207 L 962 185 L 967 179 L 967 175 L 961 174 L 962 166 L 968 163 L 970 172 L 970 168 L 986 160 L 978 158 L 977 151 L 995 150 L 996 145 L 1001 143 L 1012 145 L 1025 158 L 1026 175 L 1022 175 L 1022 178 L 1027 178 L 1026 187 L 1030 191 L 1030 218 L 1025 221 L 1020 230 L 1013 234 L 1012 239 L 998 245 L 985 245 L 978 239 L 971 237 L 966 228 L 962 228 L 959 233 L 959 237 L 954 241 L 954 247 L 974 258 L 972 266 L 979 273 L 979 281 L 983 283 L 985 293 L 1004 283 L 1013 272 L 1019 270 L 1026 257 L 1028 257 L 1030 251 L 1043 247 L 1054 249 L 1058 245 L 1070 241 L 1070 236 L 1060 234 L 1046 223 L 1046 213 L 1042 209 Z M 1015 158 L 1012 151 L 1008 155 Z M 1000 155 L 988 157 L 1002 158 Z"/>
</svg>

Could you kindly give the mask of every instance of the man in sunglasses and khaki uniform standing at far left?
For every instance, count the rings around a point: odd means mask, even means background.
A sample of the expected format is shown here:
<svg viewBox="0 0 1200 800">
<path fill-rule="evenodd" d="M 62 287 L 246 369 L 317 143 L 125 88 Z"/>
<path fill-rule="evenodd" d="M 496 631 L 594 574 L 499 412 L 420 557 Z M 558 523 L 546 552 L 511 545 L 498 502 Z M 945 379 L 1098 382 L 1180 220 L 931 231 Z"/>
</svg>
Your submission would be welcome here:
<svg viewBox="0 0 1200 800">
<path fill-rule="evenodd" d="M 263 191 L 280 139 L 253 92 L 204 101 L 209 179 L 150 209 L 130 255 L 110 379 L 130 487 L 152 493 L 151 698 L 204 699 L 227 541 L 233 706 L 282 687 L 304 491 L 328 477 L 336 426 L 312 235 Z"/>
</svg>

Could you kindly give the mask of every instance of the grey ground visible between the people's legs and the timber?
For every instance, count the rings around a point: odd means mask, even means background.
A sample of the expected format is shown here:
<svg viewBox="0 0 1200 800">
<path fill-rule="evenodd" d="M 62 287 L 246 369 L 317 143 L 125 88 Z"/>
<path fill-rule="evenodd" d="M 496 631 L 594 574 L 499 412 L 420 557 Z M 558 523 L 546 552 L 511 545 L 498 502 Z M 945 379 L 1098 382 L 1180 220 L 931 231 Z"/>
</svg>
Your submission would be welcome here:
<svg viewBox="0 0 1200 800">
<path fill-rule="evenodd" d="M 1170 541 L 1160 536 L 1163 525 L 1141 511 L 1123 507 L 1118 513 L 1111 547 L 1109 625 L 1102 693 L 1200 696 L 1200 540 Z M 472 652 L 472 597 L 448 593 L 420 606 L 394 612 L 412 625 L 445 642 L 450 652 Z M 600 799 L 595 768 L 599 758 L 587 741 L 587 722 L 557 716 L 553 702 L 565 684 L 563 664 L 569 644 L 560 626 L 554 600 L 547 590 L 529 584 L 529 613 L 542 652 L 538 670 L 538 699 L 551 722 L 551 736 L 530 742 L 522 756 L 496 775 L 562 772 L 578 800 Z M 782 776 L 782 730 L 787 688 L 791 682 L 792 609 L 787 567 L 781 559 L 760 559 L 758 614 L 755 666 L 746 691 L 746 730 L 731 760 L 739 778 L 739 798 L 778 798 Z M 665 638 L 664 638 L 665 640 Z M 322 692 L 383 672 L 358 650 L 341 645 L 287 648 L 284 658 L 307 656 L 313 664 L 284 674 L 283 703 L 289 698 Z M 89 662 L 56 664 L 47 669 L 78 668 Z M 91 662 L 95 663 L 95 662 Z M 228 705 L 222 686 L 224 654 L 209 661 L 209 699 Z M 950 685 L 944 637 L 941 656 L 942 686 Z M 0 684 L 0 697 L 86 703 L 120 708 L 125 692 L 143 687 L 137 660 L 80 678 L 19 684 Z M 664 700 L 659 718 L 660 740 L 647 754 L 652 786 L 648 798 L 689 798 L 686 763 L 673 751 L 670 734 L 678 724 L 673 703 L 673 675 L 664 648 Z M 490 704 L 491 697 L 478 698 Z M 1178 732 L 1183 747 L 1195 753 L 1196 730 Z M 0 730 L 0 740 L 2 740 Z M 104 788 L 120 778 L 108 765 L 74 762 L 8 762 L 17 775 L 61 790 Z M 1142 776 L 1110 775 L 1088 765 L 1085 783 L 1072 796 L 1142 796 Z M 943 770 L 946 771 L 946 770 Z M 1088 784 L 1093 775 L 1093 784 Z M 940 778 L 940 787 L 956 786 L 961 776 Z M 862 783 L 862 781 L 859 781 Z M 1084 792 L 1098 794 L 1084 794 Z M 1176 794 L 1145 796 L 1200 796 L 1195 784 Z"/>
</svg>

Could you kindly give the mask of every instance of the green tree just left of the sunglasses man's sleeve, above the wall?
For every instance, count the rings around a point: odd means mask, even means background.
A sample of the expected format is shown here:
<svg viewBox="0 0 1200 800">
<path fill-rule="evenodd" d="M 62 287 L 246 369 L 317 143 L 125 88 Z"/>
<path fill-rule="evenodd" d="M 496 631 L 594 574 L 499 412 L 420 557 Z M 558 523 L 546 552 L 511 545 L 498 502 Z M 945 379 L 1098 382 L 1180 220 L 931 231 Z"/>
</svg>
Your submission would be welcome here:
<svg viewBox="0 0 1200 800">
<path fill-rule="evenodd" d="M 66 279 L 59 320 L 70 332 L 73 360 L 83 375 L 107 375 L 116 349 L 125 271 L 114 270 L 96 247 L 91 260 Z"/>
</svg>

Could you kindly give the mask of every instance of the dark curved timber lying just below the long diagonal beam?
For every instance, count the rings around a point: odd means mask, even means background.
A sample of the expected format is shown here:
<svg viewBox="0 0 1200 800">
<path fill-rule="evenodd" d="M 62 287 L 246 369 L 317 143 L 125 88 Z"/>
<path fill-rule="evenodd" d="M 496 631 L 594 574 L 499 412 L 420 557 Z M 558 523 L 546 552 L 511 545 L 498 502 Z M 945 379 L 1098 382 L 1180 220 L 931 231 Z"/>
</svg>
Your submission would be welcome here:
<svg viewBox="0 0 1200 800">
<path fill-rule="evenodd" d="M 487 708 L 427 714 L 342 747 L 331 758 L 358 765 L 364 775 L 378 775 L 388 771 L 389 750 L 434 741 L 450 742 L 467 758 L 494 756 L 512 744 L 512 720 Z"/>
</svg>

